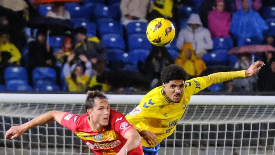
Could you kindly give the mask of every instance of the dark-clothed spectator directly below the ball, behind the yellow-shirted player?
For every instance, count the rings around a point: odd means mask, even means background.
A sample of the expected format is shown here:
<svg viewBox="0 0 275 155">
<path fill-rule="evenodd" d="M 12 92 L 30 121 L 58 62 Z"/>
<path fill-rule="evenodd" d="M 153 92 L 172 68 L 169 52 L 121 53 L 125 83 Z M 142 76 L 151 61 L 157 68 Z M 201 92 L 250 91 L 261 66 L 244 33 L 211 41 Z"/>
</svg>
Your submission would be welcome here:
<svg viewBox="0 0 275 155">
<path fill-rule="evenodd" d="M 151 87 L 161 85 L 160 73 L 168 65 L 174 64 L 174 60 L 164 46 L 154 46 L 150 54 L 145 59 L 144 70 L 145 75 L 151 79 Z"/>
</svg>

